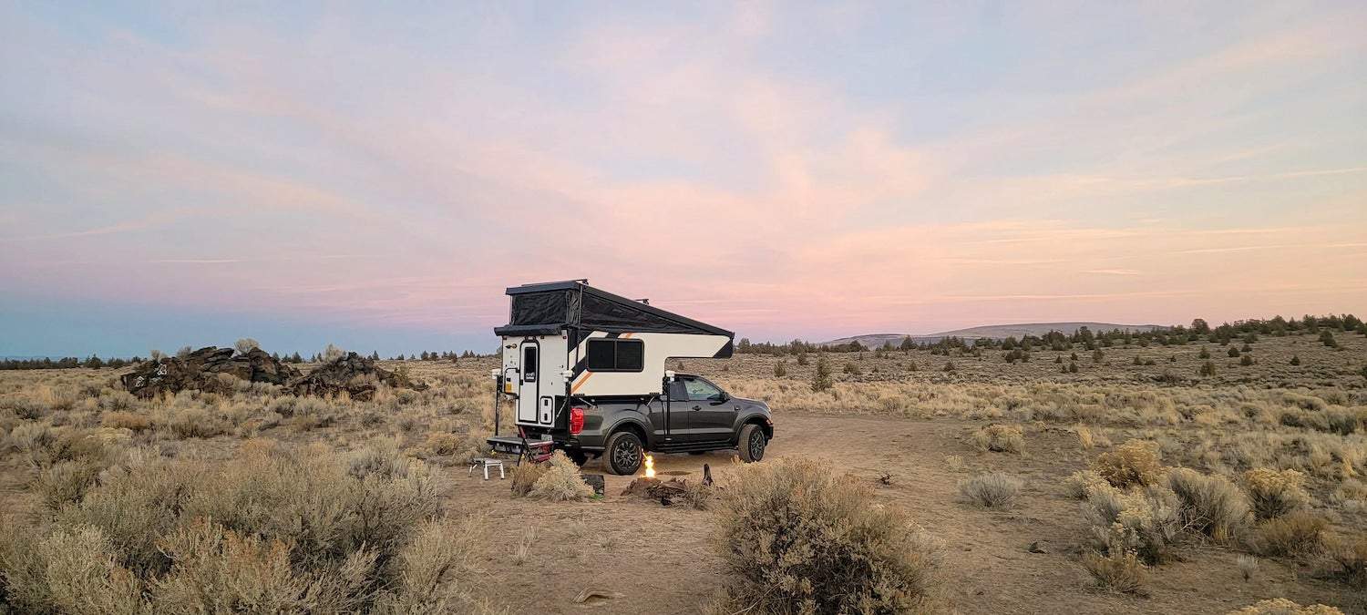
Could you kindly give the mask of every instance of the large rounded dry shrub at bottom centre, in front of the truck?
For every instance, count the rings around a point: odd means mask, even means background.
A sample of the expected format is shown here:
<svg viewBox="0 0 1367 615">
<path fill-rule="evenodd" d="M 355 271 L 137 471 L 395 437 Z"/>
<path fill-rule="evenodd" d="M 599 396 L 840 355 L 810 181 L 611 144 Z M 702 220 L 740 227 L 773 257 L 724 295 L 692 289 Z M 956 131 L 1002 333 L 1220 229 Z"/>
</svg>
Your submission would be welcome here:
<svg viewBox="0 0 1367 615">
<path fill-rule="evenodd" d="M 714 612 L 908 612 L 932 604 L 936 549 L 902 508 L 828 462 L 746 465 L 714 536 L 731 582 Z"/>
</svg>

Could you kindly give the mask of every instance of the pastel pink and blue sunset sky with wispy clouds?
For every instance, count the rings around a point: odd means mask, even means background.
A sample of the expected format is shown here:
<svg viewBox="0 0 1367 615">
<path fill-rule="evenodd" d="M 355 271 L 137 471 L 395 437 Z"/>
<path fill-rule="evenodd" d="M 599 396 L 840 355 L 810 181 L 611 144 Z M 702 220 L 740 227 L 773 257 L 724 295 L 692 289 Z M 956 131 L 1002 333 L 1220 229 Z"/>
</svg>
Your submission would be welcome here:
<svg viewBox="0 0 1367 615">
<path fill-rule="evenodd" d="M 0 0 L 0 355 L 1367 306 L 1367 4 Z"/>
</svg>

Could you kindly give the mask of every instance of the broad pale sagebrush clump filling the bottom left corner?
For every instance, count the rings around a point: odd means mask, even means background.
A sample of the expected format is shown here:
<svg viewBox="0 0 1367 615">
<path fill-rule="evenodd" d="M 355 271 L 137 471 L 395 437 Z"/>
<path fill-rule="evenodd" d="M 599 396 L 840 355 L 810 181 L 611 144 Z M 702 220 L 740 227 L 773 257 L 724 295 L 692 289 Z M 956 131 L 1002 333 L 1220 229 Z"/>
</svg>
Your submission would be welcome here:
<svg viewBox="0 0 1367 615">
<path fill-rule="evenodd" d="M 439 612 L 463 596 L 472 549 L 436 519 L 429 472 L 383 440 L 249 440 L 213 466 L 133 450 L 51 518 L 0 526 L 4 596 L 21 612 Z"/>
</svg>

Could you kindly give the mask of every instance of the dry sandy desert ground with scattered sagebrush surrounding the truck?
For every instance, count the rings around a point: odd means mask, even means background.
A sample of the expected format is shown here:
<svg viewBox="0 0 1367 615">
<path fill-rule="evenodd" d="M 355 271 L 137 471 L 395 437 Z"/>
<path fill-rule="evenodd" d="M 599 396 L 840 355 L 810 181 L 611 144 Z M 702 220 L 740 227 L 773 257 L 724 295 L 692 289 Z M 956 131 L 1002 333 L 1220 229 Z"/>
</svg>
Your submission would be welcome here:
<svg viewBox="0 0 1367 615">
<path fill-rule="evenodd" d="M 1225 614 L 1288 599 L 1352 614 L 1367 612 L 1367 338 L 1336 342 L 671 366 L 774 409 L 757 465 L 824 459 L 905 510 L 934 544 L 925 610 Z M 126 369 L 0 372 L 0 611 L 716 612 L 735 577 L 716 497 L 749 476 L 731 452 L 655 455 L 660 478 L 696 484 L 704 463 L 718 478 L 673 506 L 622 495 L 634 477 L 619 476 L 603 499 L 522 496 L 511 477 L 468 477 L 493 429 L 496 358 L 381 365 L 428 388 L 138 399 Z M 816 392 L 822 365 L 833 385 Z M 1137 484 L 1111 487 L 1117 463 Z M 973 481 L 991 473 L 1006 485 L 984 506 Z M 1192 481 L 1247 504 L 1196 519 L 1173 496 Z M 1124 511 L 1106 518 L 1107 502 Z M 586 589 L 619 596 L 576 603 Z"/>
</svg>

